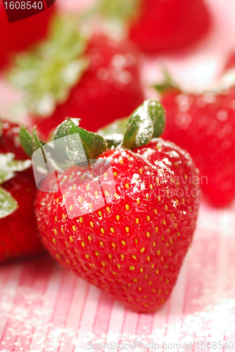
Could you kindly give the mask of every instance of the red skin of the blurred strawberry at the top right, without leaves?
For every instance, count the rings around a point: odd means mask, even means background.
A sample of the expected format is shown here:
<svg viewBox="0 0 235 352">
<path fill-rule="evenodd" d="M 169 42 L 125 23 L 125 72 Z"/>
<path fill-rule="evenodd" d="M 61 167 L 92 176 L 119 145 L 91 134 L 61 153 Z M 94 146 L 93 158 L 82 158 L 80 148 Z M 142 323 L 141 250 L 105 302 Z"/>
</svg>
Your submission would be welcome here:
<svg viewBox="0 0 235 352">
<path fill-rule="evenodd" d="M 142 0 L 141 5 L 129 38 L 149 54 L 193 44 L 210 27 L 203 0 Z"/>
</svg>

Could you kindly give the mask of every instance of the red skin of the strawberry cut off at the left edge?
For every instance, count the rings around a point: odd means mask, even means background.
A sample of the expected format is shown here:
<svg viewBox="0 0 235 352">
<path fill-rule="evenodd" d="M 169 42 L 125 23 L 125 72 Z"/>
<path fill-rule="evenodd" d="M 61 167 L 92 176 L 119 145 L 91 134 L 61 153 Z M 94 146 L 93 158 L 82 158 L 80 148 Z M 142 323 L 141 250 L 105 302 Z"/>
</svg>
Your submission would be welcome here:
<svg viewBox="0 0 235 352">
<path fill-rule="evenodd" d="M 0 153 L 14 153 L 15 159 L 26 160 L 28 156 L 20 146 L 19 126 L 4 122 L 0 139 Z M 0 219 L 0 262 L 10 258 L 32 255 L 42 251 L 42 241 L 37 233 L 34 215 L 34 198 L 37 191 L 32 168 L 16 172 L 15 177 L 1 187 L 18 202 L 18 209 L 6 218 Z"/>
</svg>

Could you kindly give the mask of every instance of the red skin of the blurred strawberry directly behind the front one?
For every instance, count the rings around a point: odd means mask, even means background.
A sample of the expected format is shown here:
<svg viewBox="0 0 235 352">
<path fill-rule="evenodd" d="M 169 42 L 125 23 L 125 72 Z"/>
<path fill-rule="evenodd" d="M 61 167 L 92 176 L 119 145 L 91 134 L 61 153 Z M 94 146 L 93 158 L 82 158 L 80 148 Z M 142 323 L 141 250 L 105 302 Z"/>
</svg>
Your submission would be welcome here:
<svg viewBox="0 0 235 352">
<path fill-rule="evenodd" d="M 144 100 L 136 52 L 129 42 L 117 42 L 103 34 L 91 37 L 90 65 L 68 100 L 48 118 L 33 118 L 37 131 L 47 137 L 66 117 L 81 118 L 80 126 L 96 132 L 116 118 L 129 115 Z"/>
</svg>

